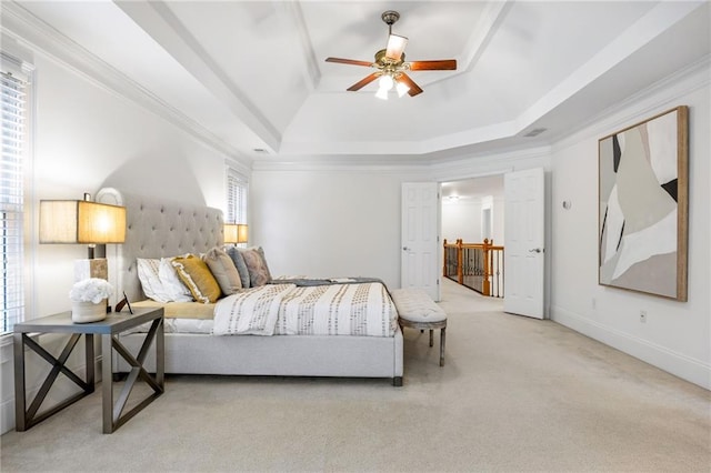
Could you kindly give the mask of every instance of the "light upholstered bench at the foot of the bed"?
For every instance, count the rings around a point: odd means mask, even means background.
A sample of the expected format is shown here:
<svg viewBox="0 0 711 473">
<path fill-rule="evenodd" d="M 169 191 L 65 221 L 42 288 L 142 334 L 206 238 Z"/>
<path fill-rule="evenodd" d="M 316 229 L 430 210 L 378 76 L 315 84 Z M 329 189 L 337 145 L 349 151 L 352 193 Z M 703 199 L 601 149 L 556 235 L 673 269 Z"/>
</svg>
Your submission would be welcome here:
<svg viewBox="0 0 711 473">
<path fill-rule="evenodd" d="M 447 313 L 421 289 L 395 289 L 390 295 L 398 309 L 400 326 L 429 330 L 430 346 L 433 345 L 432 332 L 440 329 L 440 366 L 444 366 Z"/>
</svg>

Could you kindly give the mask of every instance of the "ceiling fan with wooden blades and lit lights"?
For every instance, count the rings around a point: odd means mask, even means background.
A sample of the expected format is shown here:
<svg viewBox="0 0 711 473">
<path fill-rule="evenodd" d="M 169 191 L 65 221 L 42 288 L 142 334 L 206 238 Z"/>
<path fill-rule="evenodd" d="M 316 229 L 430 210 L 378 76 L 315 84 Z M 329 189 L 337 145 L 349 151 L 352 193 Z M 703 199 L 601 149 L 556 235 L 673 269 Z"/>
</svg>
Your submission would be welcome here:
<svg viewBox="0 0 711 473">
<path fill-rule="evenodd" d="M 388 91 L 395 89 L 400 97 L 408 93 L 414 97 L 422 93 L 420 85 L 414 83 L 407 74 L 407 71 L 453 71 L 457 70 L 455 59 L 441 59 L 433 61 L 405 61 L 404 47 L 408 43 L 405 37 L 392 34 L 392 26 L 400 19 L 400 13 L 388 10 L 381 16 L 382 21 L 388 24 L 388 46 L 375 52 L 375 61 L 358 61 L 354 59 L 327 58 L 327 62 L 339 62 L 342 64 L 364 66 L 367 68 L 375 68 L 378 71 L 356 82 L 347 90 L 354 92 L 364 85 L 380 78 L 379 89 L 375 97 L 379 99 L 388 99 Z"/>
</svg>

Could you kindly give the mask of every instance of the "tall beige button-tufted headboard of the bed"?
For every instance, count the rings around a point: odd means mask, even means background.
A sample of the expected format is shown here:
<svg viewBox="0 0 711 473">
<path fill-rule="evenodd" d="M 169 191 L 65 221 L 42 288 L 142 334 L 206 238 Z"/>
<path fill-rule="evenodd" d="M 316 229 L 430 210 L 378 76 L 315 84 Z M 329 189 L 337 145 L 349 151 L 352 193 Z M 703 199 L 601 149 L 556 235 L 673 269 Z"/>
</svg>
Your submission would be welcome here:
<svg viewBox="0 0 711 473">
<path fill-rule="evenodd" d="M 126 242 L 108 249 L 107 258 L 109 280 L 116 284 L 117 294 L 124 291 L 129 301 L 146 299 L 138 280 L 137 258 L 204 253 L 222 245 L 223 218 L 219 209 L 159 201 L 112 188 L 101 189 L 96 200 L 126 207 Z"/>
</svg>

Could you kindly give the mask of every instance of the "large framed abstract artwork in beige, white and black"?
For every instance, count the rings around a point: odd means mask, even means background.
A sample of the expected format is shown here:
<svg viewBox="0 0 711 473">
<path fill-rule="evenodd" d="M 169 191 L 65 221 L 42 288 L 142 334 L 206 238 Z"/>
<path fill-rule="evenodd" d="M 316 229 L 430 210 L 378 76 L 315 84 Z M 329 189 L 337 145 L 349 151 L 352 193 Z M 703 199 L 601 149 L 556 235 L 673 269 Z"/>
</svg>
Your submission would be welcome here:
<svg viewBox="0 0 711 473">
<path fill-rule="evenodd" d="M 689 111 L 599 140 L 598 282 L 687 300 Z"/>
</svg>

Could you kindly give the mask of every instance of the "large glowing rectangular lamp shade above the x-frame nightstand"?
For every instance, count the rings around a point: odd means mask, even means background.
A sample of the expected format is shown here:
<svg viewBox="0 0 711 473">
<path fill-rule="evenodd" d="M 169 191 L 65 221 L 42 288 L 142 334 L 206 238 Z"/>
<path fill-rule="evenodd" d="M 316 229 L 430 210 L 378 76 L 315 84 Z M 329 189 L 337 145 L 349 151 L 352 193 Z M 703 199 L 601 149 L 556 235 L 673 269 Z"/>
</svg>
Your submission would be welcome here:
<svg viewBox="0 0 711 473">
<path fill-rule="evenodd" d="M 126 208 L 83 200 L 40 201 L 40 243 L 123 243 Z"/>
</svg>

